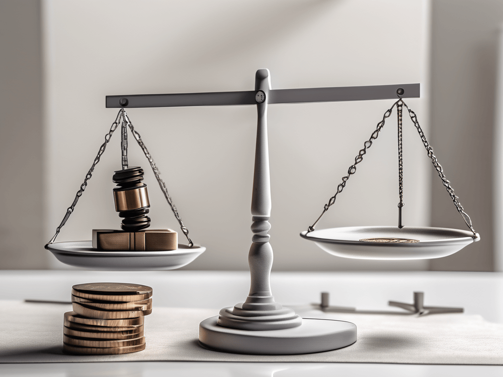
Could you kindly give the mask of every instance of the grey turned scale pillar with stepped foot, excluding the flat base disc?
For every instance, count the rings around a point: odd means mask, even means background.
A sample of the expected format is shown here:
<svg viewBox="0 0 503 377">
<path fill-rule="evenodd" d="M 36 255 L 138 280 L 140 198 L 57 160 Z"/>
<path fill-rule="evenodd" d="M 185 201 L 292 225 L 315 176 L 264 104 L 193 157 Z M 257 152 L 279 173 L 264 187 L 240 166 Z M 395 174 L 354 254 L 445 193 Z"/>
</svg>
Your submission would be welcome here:
<svg viewBox="0 0 503 377">
<path fill-rule="evenodd" d="M 240 330 L 281 330 L 302 324 L 292 309 L 274 301 L 270 275 L 273 248 L 269 243 L 271 224 L 271 178 L 269 174 L 269 146 L 267 138 L 267 100 L 271 89 L 268 69 L 259 69 L 255 76 L 257 90 L 257 144 L 255 172 L 251 194 L 251 247 L 248 253 L 250 291 L 244 303 L 220 311 L 220 326 Z"/>
</svg>

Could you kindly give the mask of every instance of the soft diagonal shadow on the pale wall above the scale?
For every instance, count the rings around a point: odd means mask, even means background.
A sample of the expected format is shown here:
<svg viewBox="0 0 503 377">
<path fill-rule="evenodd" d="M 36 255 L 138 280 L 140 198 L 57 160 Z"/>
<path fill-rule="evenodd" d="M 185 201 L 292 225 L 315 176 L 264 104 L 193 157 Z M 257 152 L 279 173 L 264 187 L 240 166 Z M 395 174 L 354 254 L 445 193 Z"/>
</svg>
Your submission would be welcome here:
<svg viewBox="0 0 503 377">
<path fill-rule="evenodd" d="M 200 68 L 201 60 L 207 65 L 218 65 L 222 61 L 233 60 L 236 55 L 256 51 L 258 46 L 262 50 L 268 50 L 275 47 L 283 36 L 292 38 L 292 35 L 301 33 L 304 26 L 315 23 L 319 16 L 340 2 L 341 0 L 271 2 L 267 9 L 257 7 L 253 2 L 229 3 L 225 9 L 215 8 L 214 15 L 205 15 L 203 19 L 199 19 L 197 28 L 184 34 L 179 40 L 183 48 L 190 46 L 193 50 L 190 61 L 182 55 L 174 57 L 169 51 L 166 51 L 166 59 L 183 67 L 193 64 L 196 69 Z M 248 16 L 243 24 L 243 18 L 235 15 L 244 12 Z M 215 25 L 213 20 L 220 20 L 219 25 Z M 211 34 L 202 33 L 209 29 L 213 30 Z M 216 45 L 215 39 L 218 40 Z M 181 49 L 180 46 L 174 48 Z"/>
</svg>

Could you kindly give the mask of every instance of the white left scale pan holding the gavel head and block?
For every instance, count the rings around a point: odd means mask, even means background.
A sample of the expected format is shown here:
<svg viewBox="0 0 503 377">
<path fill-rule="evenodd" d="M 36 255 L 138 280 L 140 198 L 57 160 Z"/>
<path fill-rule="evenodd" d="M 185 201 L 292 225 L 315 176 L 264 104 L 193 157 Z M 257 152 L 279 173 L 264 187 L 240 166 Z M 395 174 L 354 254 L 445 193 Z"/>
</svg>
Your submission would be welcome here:
<svg viewBox="0 0 503 377">
<path fill-rule="evenodd" d="M 169 251 L 98 251 L 92 241 L 54 242 L 47 249 L 65 264 L 104 271 L 153 271 L 183 267 L 206 248 L 179 244 Z"/>
</svg>

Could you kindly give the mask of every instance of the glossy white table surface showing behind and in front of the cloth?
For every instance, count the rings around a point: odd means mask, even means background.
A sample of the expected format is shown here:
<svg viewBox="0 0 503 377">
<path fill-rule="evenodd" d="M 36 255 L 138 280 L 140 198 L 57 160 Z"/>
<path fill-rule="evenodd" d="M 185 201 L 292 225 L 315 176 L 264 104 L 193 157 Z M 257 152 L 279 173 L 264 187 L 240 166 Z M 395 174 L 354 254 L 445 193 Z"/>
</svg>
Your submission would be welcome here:
<svg viewBox="0 0 503 377">
<path fill-rule="evenodd" d="M 71 286 L 83 282 L 136 282 L 153 288 L 155 306 L 214 308 L 242 302 L 249 289 L 245 271 L 96 272 L 76 270 L 0 271 L 0 300 L 70 300 Z M 464 307 L 503 323 L 503 274 L 486 272 L 273 272 L 273 294 L 288 306 L 319 302 L 330 293 L 330 304 L 361 310 L 397 310 L 389 300 L 412 302 L 413 291 L 425 292 L 427 306 Z M 502 340 L 503 341 L 503 340 Z M 3 376 L 126 375 L 126 376 L 484 376 L 503 375 L 489 365 L 410 365 L 360 363 L 229 363 L 229 362 L 113 362 L 0 364 Z"/>
</svg>

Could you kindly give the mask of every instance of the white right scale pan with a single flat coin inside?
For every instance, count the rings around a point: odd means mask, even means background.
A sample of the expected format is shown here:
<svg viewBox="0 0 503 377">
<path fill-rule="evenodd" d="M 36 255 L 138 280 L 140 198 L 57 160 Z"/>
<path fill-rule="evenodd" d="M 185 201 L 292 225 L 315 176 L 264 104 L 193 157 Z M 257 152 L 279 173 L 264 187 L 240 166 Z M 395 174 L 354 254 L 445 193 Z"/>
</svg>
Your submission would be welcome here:
<svg viewBox="0 0 503 377">
<path fill-rule="evenodd" d="M 390 226 L 319 229 L 300 236 L 332 255 L 354 259 L 441 258 L 480 239 L 465 230 Z"/>
</svg>

